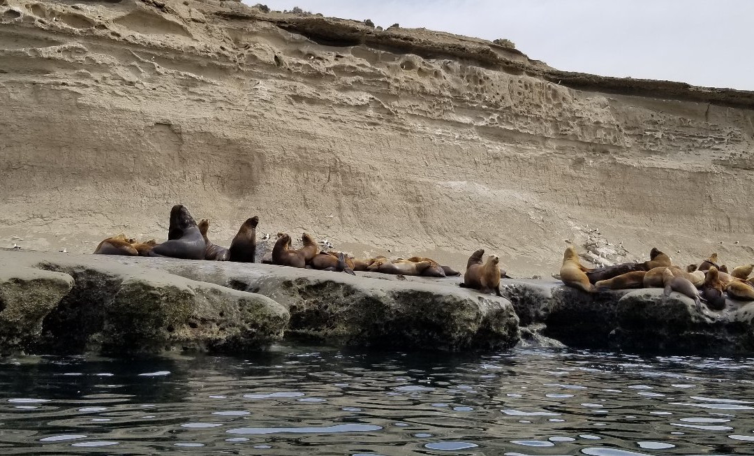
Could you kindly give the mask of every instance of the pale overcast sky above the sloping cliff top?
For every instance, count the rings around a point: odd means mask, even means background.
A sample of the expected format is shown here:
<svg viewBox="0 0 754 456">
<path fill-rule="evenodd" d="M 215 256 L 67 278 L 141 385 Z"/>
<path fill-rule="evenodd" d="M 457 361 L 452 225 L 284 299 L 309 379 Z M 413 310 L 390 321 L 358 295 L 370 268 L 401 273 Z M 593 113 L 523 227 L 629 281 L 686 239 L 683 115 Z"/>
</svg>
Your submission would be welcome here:
<svg viewBox="0 0 754 456">
<path fill-rule="evenodd" d="M 249 5 L 258 2 L 244 0 Z M 754 90 L 754 0 L 262 0 L 376 26 L 507 38 L 556 69 Z"/>
</svg>

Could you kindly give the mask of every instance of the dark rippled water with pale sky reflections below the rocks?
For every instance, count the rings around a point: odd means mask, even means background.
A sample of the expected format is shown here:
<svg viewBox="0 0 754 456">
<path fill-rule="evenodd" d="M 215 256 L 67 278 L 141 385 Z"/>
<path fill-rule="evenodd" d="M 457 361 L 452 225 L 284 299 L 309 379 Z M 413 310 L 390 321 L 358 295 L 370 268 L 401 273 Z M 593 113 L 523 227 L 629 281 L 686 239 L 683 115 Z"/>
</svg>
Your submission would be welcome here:
<svg viewBox="0 0 754 456">
<path fill-rule="evenodd" d="M 754 454 L 751 359 L 280 346 L 0 367 L 0 454 Z"/>
</svg>

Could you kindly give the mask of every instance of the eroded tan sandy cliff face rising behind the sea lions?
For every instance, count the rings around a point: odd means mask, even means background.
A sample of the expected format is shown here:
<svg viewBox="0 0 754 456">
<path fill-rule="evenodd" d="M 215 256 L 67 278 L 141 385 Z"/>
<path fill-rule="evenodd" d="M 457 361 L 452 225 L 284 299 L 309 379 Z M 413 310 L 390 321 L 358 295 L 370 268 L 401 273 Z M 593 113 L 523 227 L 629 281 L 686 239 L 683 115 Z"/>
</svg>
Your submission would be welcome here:
<svg viewBox="0 0 754 456">
<path fill-rule="evenodd" d="M 0 243 L 164 239 L 180 202 L 221 245 L 259 215 L 359 255 L 481 246 L 519 277 L 566 239 L 750 262 L 752 106 L 236 2 L 0 0 Z"/>
</svg>

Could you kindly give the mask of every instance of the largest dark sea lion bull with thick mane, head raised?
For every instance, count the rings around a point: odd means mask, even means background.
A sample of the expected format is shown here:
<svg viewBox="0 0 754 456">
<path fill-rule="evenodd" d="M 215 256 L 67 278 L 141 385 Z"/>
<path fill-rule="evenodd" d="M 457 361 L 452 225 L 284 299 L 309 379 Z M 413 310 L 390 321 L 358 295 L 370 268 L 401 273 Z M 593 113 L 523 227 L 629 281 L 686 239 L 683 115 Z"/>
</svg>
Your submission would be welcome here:
<svg viewBox="0 0 754 456">
<path fill-rule="evenodd" d="M 168 239 L 164 243 L 158 243 L 149 250 L 149 256 L 170 256 L 180 259 L 201 260 L 204 259 L 204 236 L 194 218 L 182 204 L 176 204 L 170 210 L 170 233 L 179 237 Z"/>
</svg>

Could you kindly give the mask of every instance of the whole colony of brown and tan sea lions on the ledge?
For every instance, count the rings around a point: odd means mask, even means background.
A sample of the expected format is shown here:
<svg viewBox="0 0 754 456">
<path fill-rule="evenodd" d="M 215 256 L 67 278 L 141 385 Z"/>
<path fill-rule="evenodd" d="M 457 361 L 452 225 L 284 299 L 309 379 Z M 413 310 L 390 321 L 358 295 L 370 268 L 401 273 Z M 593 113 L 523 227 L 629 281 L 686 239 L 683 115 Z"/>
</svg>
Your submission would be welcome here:
<svg viewBox="0 0 754 456">
<path fill-rule="evenodd" d="M 197 224 L 189 210 L 177 204 L 170 210 L 170 226 L 164 243 L 157 243 L 154 239 L 140 243 L 118 234 L 100 242 L 94 253 L 254 262 L 258 224 L 259 218 L 256 216 L 247 219 L 233 238 L 231 246 L 225 249 L 212 243 L 207 237 L 209 220 L 203 219 Z M 301 240 L 302 247 L 294 249 L 290 234 L 277 233 L 272 252 L 262 258 L 262 263 L 348 274 L 354 274 L 354 271 L 372 271 L 425 277 L 461 275 L 433 259 L 418 256 L 409 259 L 388 259 L 385 256 L 356 259 L 347 256 L 345 252 L 320 250 L 317 242 L 307 233 L 302 234 Z M 501 295 L 500 279 L 508 276 L 499 268 L 499 262 L 495 255 L 488 256 L 484 261 L 484 249 L 477 250 L 468 259 L 464 281 L 460 285 Z M 716 253 L 698 265 L 682 268 L 673 265 L 670 257 L 656 248 L 651 249 L 646 262 L 587 268 L 581 265 L 576 249 L 569 246 L 563 255 L 560 280 L 566 286 L 583 292 L 659 287 L 665 289 L 666 295 L 673 291 L 680 292 L 694 299 L 697 306 L 701 306 L 703 301 L 707 307 L 721 310 L 725 308 L 725 295 L 734 299 L 754 300 L 754 277 L 749 277 L 752 271 L 754 264 L 739 266 L 728 274 L 728 268 L 719 265 Z"/>
</svg>

